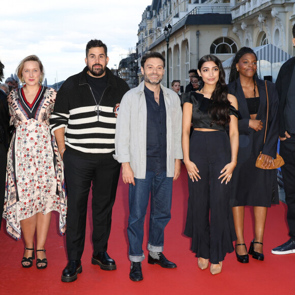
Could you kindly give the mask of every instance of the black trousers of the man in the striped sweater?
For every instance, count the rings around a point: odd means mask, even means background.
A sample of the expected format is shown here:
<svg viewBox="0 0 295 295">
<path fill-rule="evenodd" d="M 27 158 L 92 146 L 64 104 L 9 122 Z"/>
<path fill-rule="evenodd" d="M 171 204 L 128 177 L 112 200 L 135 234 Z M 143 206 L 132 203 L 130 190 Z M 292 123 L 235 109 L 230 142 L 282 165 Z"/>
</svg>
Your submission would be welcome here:
<svg viewBox="0 0 295 295">
<path fill-rule="evenodd" d="M 64 153 L 64 164 L 68 188 L 67 252 L 69 260 L 77 260 L 84 250 L 91 183 L 94 251 L 107 250 L 121 164 L 114 159 L 81 158 L 67 151 Z"/>
</svg>

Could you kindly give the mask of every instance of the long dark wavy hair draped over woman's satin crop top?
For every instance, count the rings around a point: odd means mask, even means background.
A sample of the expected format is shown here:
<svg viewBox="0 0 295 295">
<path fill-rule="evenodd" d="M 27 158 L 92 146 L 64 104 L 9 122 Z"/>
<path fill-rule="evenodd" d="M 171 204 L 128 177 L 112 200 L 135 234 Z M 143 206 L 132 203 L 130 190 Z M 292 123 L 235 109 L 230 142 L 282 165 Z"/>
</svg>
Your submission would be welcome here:
<svg viewBox="0 0 295 295">
<path fill-rule="evenodd" d="M 230 122 L 229 107 L 230 102 L 227 99 L 227 85 L 225 83 L 225 73 L 222 63 L 218 57 L 213 54 L 204 55 L 198 62 L 198 70 L 201 72 L 201 67 L 206 62 L 214 62 L 219 69 L 219 79 L 216 83 L 215 89 L 211 95 L 213 104 L 208 110 L 212 118 L 212 123 L 225 126 Z"/>
</svg>

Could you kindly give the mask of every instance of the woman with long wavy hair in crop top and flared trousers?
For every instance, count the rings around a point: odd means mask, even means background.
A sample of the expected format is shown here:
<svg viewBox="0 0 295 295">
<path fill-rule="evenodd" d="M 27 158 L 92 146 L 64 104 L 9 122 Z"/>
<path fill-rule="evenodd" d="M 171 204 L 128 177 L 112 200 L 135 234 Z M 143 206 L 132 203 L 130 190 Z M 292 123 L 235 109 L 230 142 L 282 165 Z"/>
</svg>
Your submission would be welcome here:
<svg viewBox="0 0 295 295">
<path fill-rule="evenodd" d="M 210 260 L 214 275 L 221 272 L 222 261 L 234 250 L 232 241 L 236 239 L 229 181 L 239 148 L 238 103 L 227 94 L 224 70 L 216 56 L 203 56 L 198 74 L 203 87 L 182 96 L 182 146 L 189 181 L 185 234 L 192 238 L 198 267 L 208 268 Z M 194 131 L 189 138 L 191 122 Z"/>
</svg>

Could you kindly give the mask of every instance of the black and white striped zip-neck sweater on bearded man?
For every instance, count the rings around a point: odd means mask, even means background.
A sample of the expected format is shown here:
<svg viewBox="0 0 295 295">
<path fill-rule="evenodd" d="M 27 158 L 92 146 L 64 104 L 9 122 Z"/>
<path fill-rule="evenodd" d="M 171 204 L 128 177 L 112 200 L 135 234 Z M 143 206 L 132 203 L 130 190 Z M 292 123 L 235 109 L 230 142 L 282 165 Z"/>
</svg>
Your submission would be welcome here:
<svg viewBox="0 0 295 295">
<path fill-rule="evenodd" d="M 108 159 L 114 154 L 116 116 L 128 84 L 106 68 L 107 86 L 100 101 L 99 119 L 85 67 L 69 77 L 58 91 L 50 118 L 51 133 L 65 127 L 67 151 L 85 158 Z M 99 78 L 98 78 L 99 79 Z"/>
</svg>

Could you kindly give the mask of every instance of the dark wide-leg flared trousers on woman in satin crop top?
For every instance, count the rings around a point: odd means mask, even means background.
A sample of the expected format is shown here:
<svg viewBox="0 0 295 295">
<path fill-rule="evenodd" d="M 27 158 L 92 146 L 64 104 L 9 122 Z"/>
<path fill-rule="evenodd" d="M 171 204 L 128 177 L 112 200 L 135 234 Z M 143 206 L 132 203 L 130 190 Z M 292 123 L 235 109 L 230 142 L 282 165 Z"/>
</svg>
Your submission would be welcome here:
<svg viewBox="0 0 295 295">
<path fill-rule="evenodd" d="M 223 131 L 196 131 L 190 138 L 190 160 L 199 169 L 201 179 L 189 182 L 188 213 L 185 234 L 192 238 L 191 250 L 197 257 L 218 264 L 233 251 L 236 240 L 229 205 L 230 182 L 221 184 L 220 171 L 230 162 L 231 151 Z M 234 173 L 234 172 L 233 172 Z"/>
</svg>

